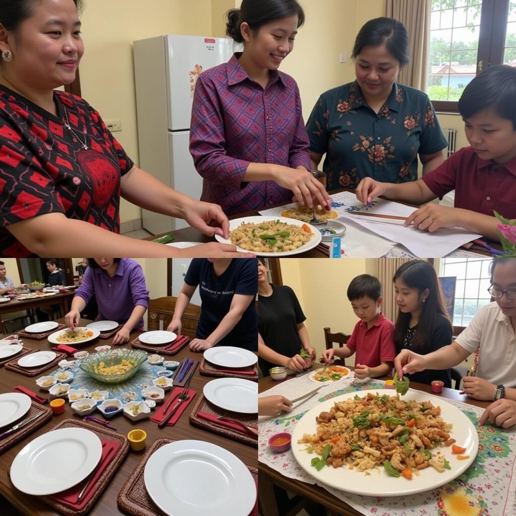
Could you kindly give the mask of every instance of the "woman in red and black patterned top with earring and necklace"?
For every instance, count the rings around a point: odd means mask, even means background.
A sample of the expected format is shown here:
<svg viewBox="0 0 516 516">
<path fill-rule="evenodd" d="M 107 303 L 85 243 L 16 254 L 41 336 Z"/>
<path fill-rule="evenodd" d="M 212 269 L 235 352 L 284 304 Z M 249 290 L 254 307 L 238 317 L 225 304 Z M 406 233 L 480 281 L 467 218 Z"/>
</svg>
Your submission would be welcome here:
<svg viewBox="0 0 516 516">
<path fill-rule="evenodd" d="M 228 236 L 229 222 L 220 206 L 190 199 L 136 167 L 97 111 L 54 91 L 74 81 L 84 53 L 82 6 L 2 0 L 0 256 L 236 257 L 229 245 L 175 249 L 115 234 L 120 196 L 209 236 Z"/>
</svg>

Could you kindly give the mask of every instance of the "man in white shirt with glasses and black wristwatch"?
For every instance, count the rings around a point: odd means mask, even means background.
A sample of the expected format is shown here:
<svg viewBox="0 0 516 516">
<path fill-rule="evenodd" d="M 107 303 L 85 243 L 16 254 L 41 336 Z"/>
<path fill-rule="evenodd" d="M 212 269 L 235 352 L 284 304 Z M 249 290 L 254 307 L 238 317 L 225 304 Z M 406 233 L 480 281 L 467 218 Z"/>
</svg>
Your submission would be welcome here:
<svg viewBox="0 0 516 516">
<path fill-rule="evenodd" d="M 494 400 L 480 421 L 489 417 L 507 428 L 516 424 L 515 258 L 493 260 L 489 292 L 496 302 L 481 308 L 455 342 L 425 356 L 404 349 L 394 365 L 401 378 L 404 373 L 453 367 L 478 349 L 476 376 L 463 378 L 464 392 L 475 399 Z"/>
</svg>

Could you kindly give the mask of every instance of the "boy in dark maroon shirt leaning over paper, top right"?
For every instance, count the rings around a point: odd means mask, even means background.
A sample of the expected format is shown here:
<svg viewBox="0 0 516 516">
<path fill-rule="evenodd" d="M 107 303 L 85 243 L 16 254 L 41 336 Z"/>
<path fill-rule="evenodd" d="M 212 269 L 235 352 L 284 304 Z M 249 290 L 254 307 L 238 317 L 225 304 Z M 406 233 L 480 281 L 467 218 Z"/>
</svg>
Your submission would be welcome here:
<svg viewBox="0 0 516 516">
<path fill-rule="evenodd" d="M 455 189 L 453 208 L 426 204 L 405 225 L 413 223 L 430 233 L 458 226 L 499 241 L 493 212 L 516 218 L 516 68 L 493 66 L 477 75 L 464 89 L 459 111 L 471 147 L 411 183 L 365 178 L 357 198 L 368 203 L 384 195 L 422 205 Z"/>
</svg>

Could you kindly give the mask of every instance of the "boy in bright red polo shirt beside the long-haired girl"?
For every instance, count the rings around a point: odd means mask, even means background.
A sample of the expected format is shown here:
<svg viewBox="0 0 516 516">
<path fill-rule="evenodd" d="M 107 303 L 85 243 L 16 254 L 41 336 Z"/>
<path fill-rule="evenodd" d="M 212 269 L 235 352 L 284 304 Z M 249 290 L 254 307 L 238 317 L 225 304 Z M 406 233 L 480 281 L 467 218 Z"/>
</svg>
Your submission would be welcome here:
<svg viewBox="0 0 516 516">
<path fill-rule="evenodd" d="M 394 325 L 380 313 L 382 286 L 378 278 L 361 274 L 351 280 L 347 294 L 353 312 L 360 320 L 345 346 L 327 349 L 322 353 L 322 359 L 331 362 L 334 356 L 347 358 L 356 352 L 356 378 L 362 380 L 384 376 L 393 367 L 396 347 L 393 338 Z"/>
</svg>

